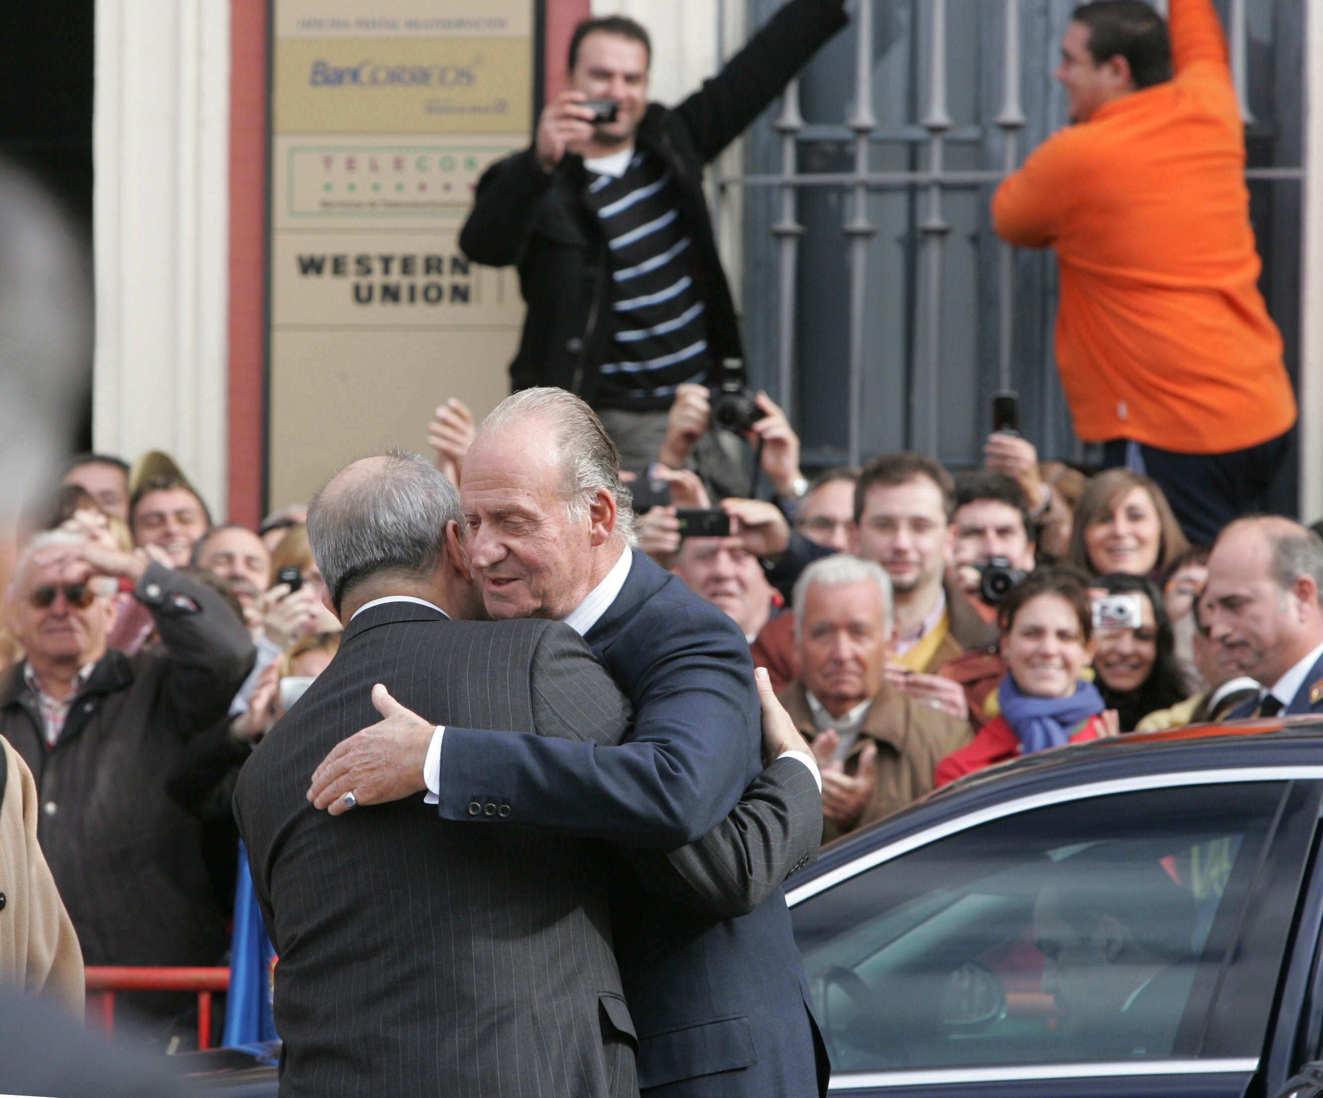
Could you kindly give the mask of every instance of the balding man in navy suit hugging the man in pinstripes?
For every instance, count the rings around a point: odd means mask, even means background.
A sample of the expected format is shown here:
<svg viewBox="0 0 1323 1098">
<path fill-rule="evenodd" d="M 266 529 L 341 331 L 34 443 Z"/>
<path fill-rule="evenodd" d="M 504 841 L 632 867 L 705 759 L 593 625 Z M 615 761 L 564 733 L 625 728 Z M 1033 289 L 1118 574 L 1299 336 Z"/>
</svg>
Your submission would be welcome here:
<svg viewBox="0 0 1323 1098">
<path fill-rule="evenodd" d="M 744 881 L 737 892 L 755 902 L 704 910 L 614 874 L 639 1083 L 650 1098 L 822 1093 L 826 1052 L 781 890 L 804 860 L 794 853 L 802 832 L 820 822 L 820 779 L 798 734 L 769 751 L 779 757 L 763 770 L 749 646 L 721 610 L 631 546 L 617 460 L 578 397 L 528 389 L 483 423 L 460 496 L 487 612 L 579 631 L 632 705 L 626 742 L 583 750 L 433 729 L 388 698 L 378 704 L 388 720 L 340 743 L 308 796 L 339 814 L 426 788 L 442 820 L 671 851 L 691 885 Z M 726 839 L 706 841 L 714 833 Z"/>
</svg>

